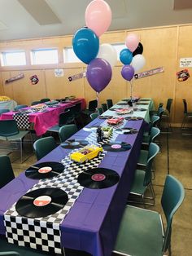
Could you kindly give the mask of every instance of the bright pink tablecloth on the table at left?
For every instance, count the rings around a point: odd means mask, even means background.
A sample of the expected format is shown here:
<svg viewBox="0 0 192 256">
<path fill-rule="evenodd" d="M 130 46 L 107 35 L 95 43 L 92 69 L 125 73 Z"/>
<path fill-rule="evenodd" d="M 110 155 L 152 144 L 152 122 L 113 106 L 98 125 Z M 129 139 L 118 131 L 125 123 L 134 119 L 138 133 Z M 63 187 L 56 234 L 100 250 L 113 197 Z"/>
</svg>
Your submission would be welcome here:
<svg viewBox="0 0 192 256">
<path fill-rule="evenodd" d="M 51 126 L 55 126 L 59 123 L 59 114 L 72 105 L 81 102 L 81 109 L 86 107 L 85 99 L 72 100 L 66 104 L 60 104 L 58 108 L 47 108 L 48 111 L 45 113 L 30 113 L 29 121 L 34 123 L 34 130 L 37 136 L 41 136 L 46 133 Z M 3 113 L 0 120 L 10 120 L 13 119 L 12 111 Z"/>
</svg>

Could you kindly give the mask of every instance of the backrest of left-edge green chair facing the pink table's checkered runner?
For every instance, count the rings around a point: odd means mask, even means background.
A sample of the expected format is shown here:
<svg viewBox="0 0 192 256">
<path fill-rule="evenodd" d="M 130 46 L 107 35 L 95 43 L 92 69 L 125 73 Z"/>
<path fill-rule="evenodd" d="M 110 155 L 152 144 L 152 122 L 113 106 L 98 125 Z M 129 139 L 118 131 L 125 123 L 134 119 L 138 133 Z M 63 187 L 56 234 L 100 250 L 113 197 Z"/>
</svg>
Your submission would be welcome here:
<svg viewBox="0 0 192 256">
<path fill-rule="evenodd" d="M 0 120 L 0 136 L 9 137 L 19 133 L 15 120 Z"/>
</svg>

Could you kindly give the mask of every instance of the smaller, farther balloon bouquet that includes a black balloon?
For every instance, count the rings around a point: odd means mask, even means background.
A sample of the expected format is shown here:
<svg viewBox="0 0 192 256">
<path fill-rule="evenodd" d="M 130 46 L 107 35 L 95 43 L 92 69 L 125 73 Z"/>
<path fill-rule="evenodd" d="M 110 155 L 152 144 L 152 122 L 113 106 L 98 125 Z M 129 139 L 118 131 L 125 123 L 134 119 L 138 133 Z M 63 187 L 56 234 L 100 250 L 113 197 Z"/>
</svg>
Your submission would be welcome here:
<svg viewBox="0 0 192 256">
<path fill-rule="evenodd" d="M 132 101 L 134 74 L 146 64 L 146 60 L 142 55 L 143 46 L 137 34 L 130 33 L 125 40 L 125 45 L 127 48 L 120 51 L 120 61 L 124 64 L 121 75 L 130 82 L 130 100 Z"/>
</svg>

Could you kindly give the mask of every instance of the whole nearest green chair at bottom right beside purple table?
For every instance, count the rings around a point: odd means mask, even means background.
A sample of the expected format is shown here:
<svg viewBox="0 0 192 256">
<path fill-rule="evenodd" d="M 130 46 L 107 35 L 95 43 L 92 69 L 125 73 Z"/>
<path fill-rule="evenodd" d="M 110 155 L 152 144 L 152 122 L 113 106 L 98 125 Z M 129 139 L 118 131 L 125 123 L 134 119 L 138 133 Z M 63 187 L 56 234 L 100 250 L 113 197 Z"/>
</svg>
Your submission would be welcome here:
<svg viewBox="0 0 192 256">
<path fill-rule="evenodd" d="M 172 218 L 180 207 L 184 196 L 185 190 L 182 184 L 172 175 L 167 175 L 161 197 L 161 205 L 167 223 L 165 232 L 161 215 L 158 212 L 126 205 L 114 253 L 162 256 L 168 249 L 169 255 L 171 255 Z"/>
</svg>

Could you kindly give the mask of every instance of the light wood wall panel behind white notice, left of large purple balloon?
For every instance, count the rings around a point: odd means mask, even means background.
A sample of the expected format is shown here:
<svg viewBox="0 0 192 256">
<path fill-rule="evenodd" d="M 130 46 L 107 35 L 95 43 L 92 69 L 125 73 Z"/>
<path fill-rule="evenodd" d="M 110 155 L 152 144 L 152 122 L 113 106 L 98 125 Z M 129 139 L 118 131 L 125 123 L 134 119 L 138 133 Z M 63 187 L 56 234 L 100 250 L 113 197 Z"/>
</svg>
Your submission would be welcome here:
<svg viewBox="0 0 192 256">
<path fill-rule="evenodd" d="M 83 72 L 82 68 L 63 68 L 63 77 L 55 77 L 55 69 L 46 70 L 46 90 L 50 99 L 76 95 L 84 98 L 83 79 L 69 82 L 68 77 Z"/>
</svg>

